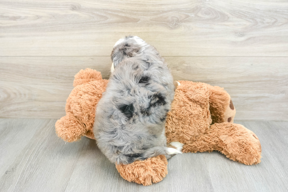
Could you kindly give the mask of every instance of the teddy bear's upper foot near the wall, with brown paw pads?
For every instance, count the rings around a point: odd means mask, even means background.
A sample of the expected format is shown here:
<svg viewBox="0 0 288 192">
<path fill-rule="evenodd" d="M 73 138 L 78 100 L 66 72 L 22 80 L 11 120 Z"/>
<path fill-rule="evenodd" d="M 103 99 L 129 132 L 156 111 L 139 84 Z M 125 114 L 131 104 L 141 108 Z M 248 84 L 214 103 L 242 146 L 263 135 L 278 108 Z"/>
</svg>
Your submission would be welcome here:
<svg viewBox="0 0 288 192">
<path fill-rule="evenodd" d="M 221 87 L 208 84 L 209 109 L 213 123 L 233 123 L 236 109 L 230 95 Z"/>
</svg>

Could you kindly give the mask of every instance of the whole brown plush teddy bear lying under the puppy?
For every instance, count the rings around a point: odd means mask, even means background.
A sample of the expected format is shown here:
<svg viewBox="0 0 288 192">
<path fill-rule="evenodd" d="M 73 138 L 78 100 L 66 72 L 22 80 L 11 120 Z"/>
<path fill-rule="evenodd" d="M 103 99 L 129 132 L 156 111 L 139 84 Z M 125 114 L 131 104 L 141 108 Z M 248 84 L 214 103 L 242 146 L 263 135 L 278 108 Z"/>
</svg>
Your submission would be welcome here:
<svg viewBox="0 0 288 192">
<path fill-rule="evenodd" d="M 218 86 L 192 81 L 176 81 L 174 101 L 166 120 L 167 143 L 183 144 L 182 152 L 217 150 L 229 159 L 247 165 L 261 158 L 258 137 L 240 124 L 233 123 L 236 110 L 230 95 Z M 94 139 L 93 123 L 98 101 L 108 80 L 93 69 L 75 75 L 74 89 L 66 103 L 66 116 L 55 124 L 56 133 L 67 142 L 86 136 Z M 116 164 L 120 175 L 143 185 L 161 181 L 167 171 L 164 155 L 128 165 Z"/>
</svg>

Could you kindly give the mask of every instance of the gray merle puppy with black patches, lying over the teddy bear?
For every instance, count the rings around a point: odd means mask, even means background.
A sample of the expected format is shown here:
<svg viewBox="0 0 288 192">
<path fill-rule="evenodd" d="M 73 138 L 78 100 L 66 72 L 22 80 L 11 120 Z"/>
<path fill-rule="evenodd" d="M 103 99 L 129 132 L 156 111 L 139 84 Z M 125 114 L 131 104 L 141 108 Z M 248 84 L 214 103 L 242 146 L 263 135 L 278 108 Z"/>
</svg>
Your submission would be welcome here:
<svg viewBox="0 0 288 192">
<path fill-rule="evenodd" d="M 114 45 L 111 58 L 112 74 L 93 128 L 98 147 L 118 164 L 181 153 L 179 142 L 166 147 L 165 119 L 175 86 L 163 57 L 141 38 L 129 36 Z"/>
</svg>

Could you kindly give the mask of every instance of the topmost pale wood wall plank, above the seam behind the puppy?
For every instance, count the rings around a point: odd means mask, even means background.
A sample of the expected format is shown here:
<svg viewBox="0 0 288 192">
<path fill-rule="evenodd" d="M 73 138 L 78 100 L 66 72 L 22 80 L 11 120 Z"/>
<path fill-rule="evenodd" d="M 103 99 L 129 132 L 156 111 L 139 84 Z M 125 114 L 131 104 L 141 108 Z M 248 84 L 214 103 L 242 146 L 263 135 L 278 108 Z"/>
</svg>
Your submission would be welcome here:
<svg viewBox="0 0 288 192">
<path fill-rule="evenodd" d="M 0 56 L 108 56 L 138 35 L 163 56 L 287 56 L 288 2 L 1 0 Z"/>
</svg>

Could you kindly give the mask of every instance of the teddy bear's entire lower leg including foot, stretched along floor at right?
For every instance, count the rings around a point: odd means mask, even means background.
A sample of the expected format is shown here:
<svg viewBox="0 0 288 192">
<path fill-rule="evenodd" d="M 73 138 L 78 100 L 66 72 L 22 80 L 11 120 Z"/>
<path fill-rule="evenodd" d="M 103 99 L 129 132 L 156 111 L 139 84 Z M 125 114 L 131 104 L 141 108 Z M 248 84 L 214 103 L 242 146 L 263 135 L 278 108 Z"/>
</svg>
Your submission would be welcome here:
<svg viewBox="0 0 288 192">
<path fill-rule="evenodd" d="M 246 165 L 261 162 L 261 144 L 258 137 L 243 125 L 215 123 L 203 135 L 187 142 L 182 152 L 220 151 L 226 157 Z"/>
</svg>

